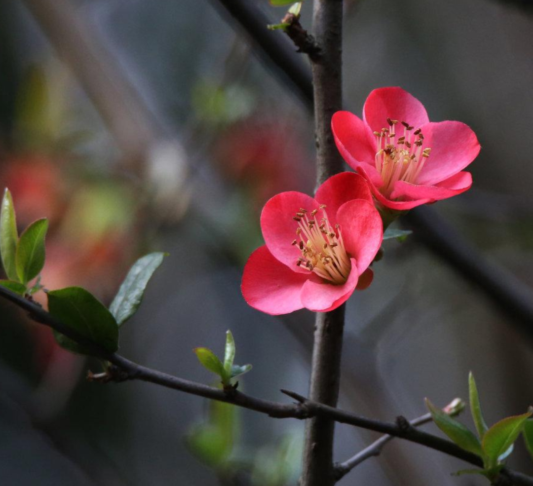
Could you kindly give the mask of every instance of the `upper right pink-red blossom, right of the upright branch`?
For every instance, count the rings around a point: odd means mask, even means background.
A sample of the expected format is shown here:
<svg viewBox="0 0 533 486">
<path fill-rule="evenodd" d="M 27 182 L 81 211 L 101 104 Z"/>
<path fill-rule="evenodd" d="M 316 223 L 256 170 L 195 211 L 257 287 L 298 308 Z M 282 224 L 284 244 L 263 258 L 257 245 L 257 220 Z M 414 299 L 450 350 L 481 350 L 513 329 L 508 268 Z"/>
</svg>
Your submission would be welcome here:
<svg viewBox="0 0 533 486">
<path fill-rule="evenodd" d="M 332 130 L 344 160 L 387 208 L 411 209 L 472 185 L 472 175 L 463 171 L 480 150 L 472 129 L 461 122 L 430 122 L 422 103 L 402 88 L 370 93 L 362 120 L 337 111 Z"/>
</svg>

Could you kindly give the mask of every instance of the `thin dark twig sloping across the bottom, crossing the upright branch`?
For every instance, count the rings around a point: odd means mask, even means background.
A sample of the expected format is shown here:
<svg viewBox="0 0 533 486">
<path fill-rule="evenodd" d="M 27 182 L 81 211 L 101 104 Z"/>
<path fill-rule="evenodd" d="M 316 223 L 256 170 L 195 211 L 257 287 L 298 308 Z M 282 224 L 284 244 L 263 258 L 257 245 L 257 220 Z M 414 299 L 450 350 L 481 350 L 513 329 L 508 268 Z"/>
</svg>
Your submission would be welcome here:
<svg viewBox="0 0 533 486">
<path fill-rule="evenodd" d="M 416 442 L 425 445 L 430 449 L 435 449 L 464 460 L 467 463 L 475 466 L 482 466 L 481 459 L 470 452 L 459 448 L 453 442 L 441 439 L 435 435 L 426 432 L 418 431 L 414 427 L 404 427 L 393 422 L 381 422 L 380 420 L 368 419 L 360 417 L 351 412 L 340 410 L 334 407 L 329 407 L 324 403 L 318 403 L 306 399 L 304 396 L 295 392 L 282 390 L 283 393 L 290 396 L 296 403 L 282 403 L 273 402 L 270 400 L 263 400 L 255 398 L 254 396 L 246 395 L 238 391 L 227 393 L 220 388 L 204 385 L 202 383 L 191 382 L 182 378 L 177 378 L 168 375 L 164 372 L 150 369 L 140 364 L 134 363 L 117 353 L 108 353 L 100 346 L 88 342 L 86 338 L 80 336 L 76 331 L 71 330 L 65 326 L 61 321 L 54 318 L 49 312 L 46 312 L 41 306 L 30 302 L 27 299 L 15 294 L 11 290 L 0 285 L 0 297 L 6 298 L 29 313 L 29 317 L 35 322 L 41 323 L 45 326 L 59 331 L 60 333 L 78 341 L 80 344 L 90 345 L 94 350 L 94 356 L 106 359 L 113 363 L 115 370 L 110 371 L 112 380 L 122 382 L 124 380 L 142 380 L 149 383 L 154 383 L 173 390 L 182 391 L 191 395 L 203 396 L 211 400 L 218 400 L 227 403 L 233 403 L 239 407 L 248 408 L 261 412 L 275 418 L 296 418 L 304 419 L 314 416 L 326 417 L 335 422 L 349 424 L 356 427 L 366 428 L 375 432 L 390 434 L 410 442 Z M 504 474 L 516 486 L 533 486 L 533 477 L 522 473 L 512 471 L 511 469 L 504 469 Z"/>
</svg>

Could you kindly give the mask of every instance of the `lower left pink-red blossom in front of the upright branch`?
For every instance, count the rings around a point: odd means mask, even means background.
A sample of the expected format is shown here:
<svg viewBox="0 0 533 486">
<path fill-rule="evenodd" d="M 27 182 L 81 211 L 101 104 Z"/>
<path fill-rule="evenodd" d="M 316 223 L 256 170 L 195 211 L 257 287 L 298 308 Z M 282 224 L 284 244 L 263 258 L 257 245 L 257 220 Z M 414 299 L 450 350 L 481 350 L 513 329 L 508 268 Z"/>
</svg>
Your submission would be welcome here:
<svg viewBox="0 0 533 486">
<path fill-rule="evenodd" d="M 261 213 L 266 245 L 244 268 L 246 302 L 268 314 L 306 307 L 326 312 L 370 285 L 383 224 L 365 180 L 344 172 L 330 177 L 314 198 L 281 192 Z"/>
</svg>

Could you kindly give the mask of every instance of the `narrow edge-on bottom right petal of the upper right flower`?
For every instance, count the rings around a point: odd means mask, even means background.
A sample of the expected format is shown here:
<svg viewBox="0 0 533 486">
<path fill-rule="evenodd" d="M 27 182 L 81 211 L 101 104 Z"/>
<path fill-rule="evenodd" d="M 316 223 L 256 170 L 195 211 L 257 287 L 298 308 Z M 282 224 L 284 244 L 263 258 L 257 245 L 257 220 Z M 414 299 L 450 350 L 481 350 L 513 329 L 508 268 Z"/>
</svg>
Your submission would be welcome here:
<svg viewBox="0 0 533 486">
<path fill-rule="evenodd" d="M 404 181 L 394 184 L 394 191 L 391 197 L 405 197 L 408 199 L 430 199 L 430 202 L 440 201 L 457 196 L 469 190 L 472 186 L 472 174 L 470 172 L 459 172 L 451 176 L 446 181 L 437 185 L 416 185 Z"/>
</svg>

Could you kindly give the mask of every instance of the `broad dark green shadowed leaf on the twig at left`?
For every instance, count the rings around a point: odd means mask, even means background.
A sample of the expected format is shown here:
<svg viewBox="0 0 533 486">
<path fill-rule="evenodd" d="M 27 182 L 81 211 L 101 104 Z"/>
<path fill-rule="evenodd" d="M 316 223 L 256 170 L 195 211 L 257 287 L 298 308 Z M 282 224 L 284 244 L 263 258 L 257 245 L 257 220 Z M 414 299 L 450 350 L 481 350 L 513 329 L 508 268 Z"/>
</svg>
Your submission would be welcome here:
<svg viewBox="0 0 533 486">
<path fill-rule="evenodd" d="M 80 336 L 111 353 L 118 349 L 117 321 L 89 291 L 81 287 L 51 290 L 47 294 L 50 313 Z M 89 354 L 86 346 L 55 333 L 58 343 L 70 351 Z"/>
</svg>

